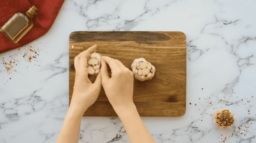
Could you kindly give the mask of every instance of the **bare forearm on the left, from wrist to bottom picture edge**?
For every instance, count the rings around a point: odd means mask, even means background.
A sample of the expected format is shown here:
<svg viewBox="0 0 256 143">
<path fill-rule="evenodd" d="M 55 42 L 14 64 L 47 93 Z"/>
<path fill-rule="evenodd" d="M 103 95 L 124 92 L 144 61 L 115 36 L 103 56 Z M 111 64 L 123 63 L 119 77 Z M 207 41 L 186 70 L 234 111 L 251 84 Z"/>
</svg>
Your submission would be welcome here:
<svg viewBox="0 0 256 143">
<path fill-rule="evenodd" d="M 70 106 L 56 143 L 77 143 L 84 112 Z"/>
</svg>

